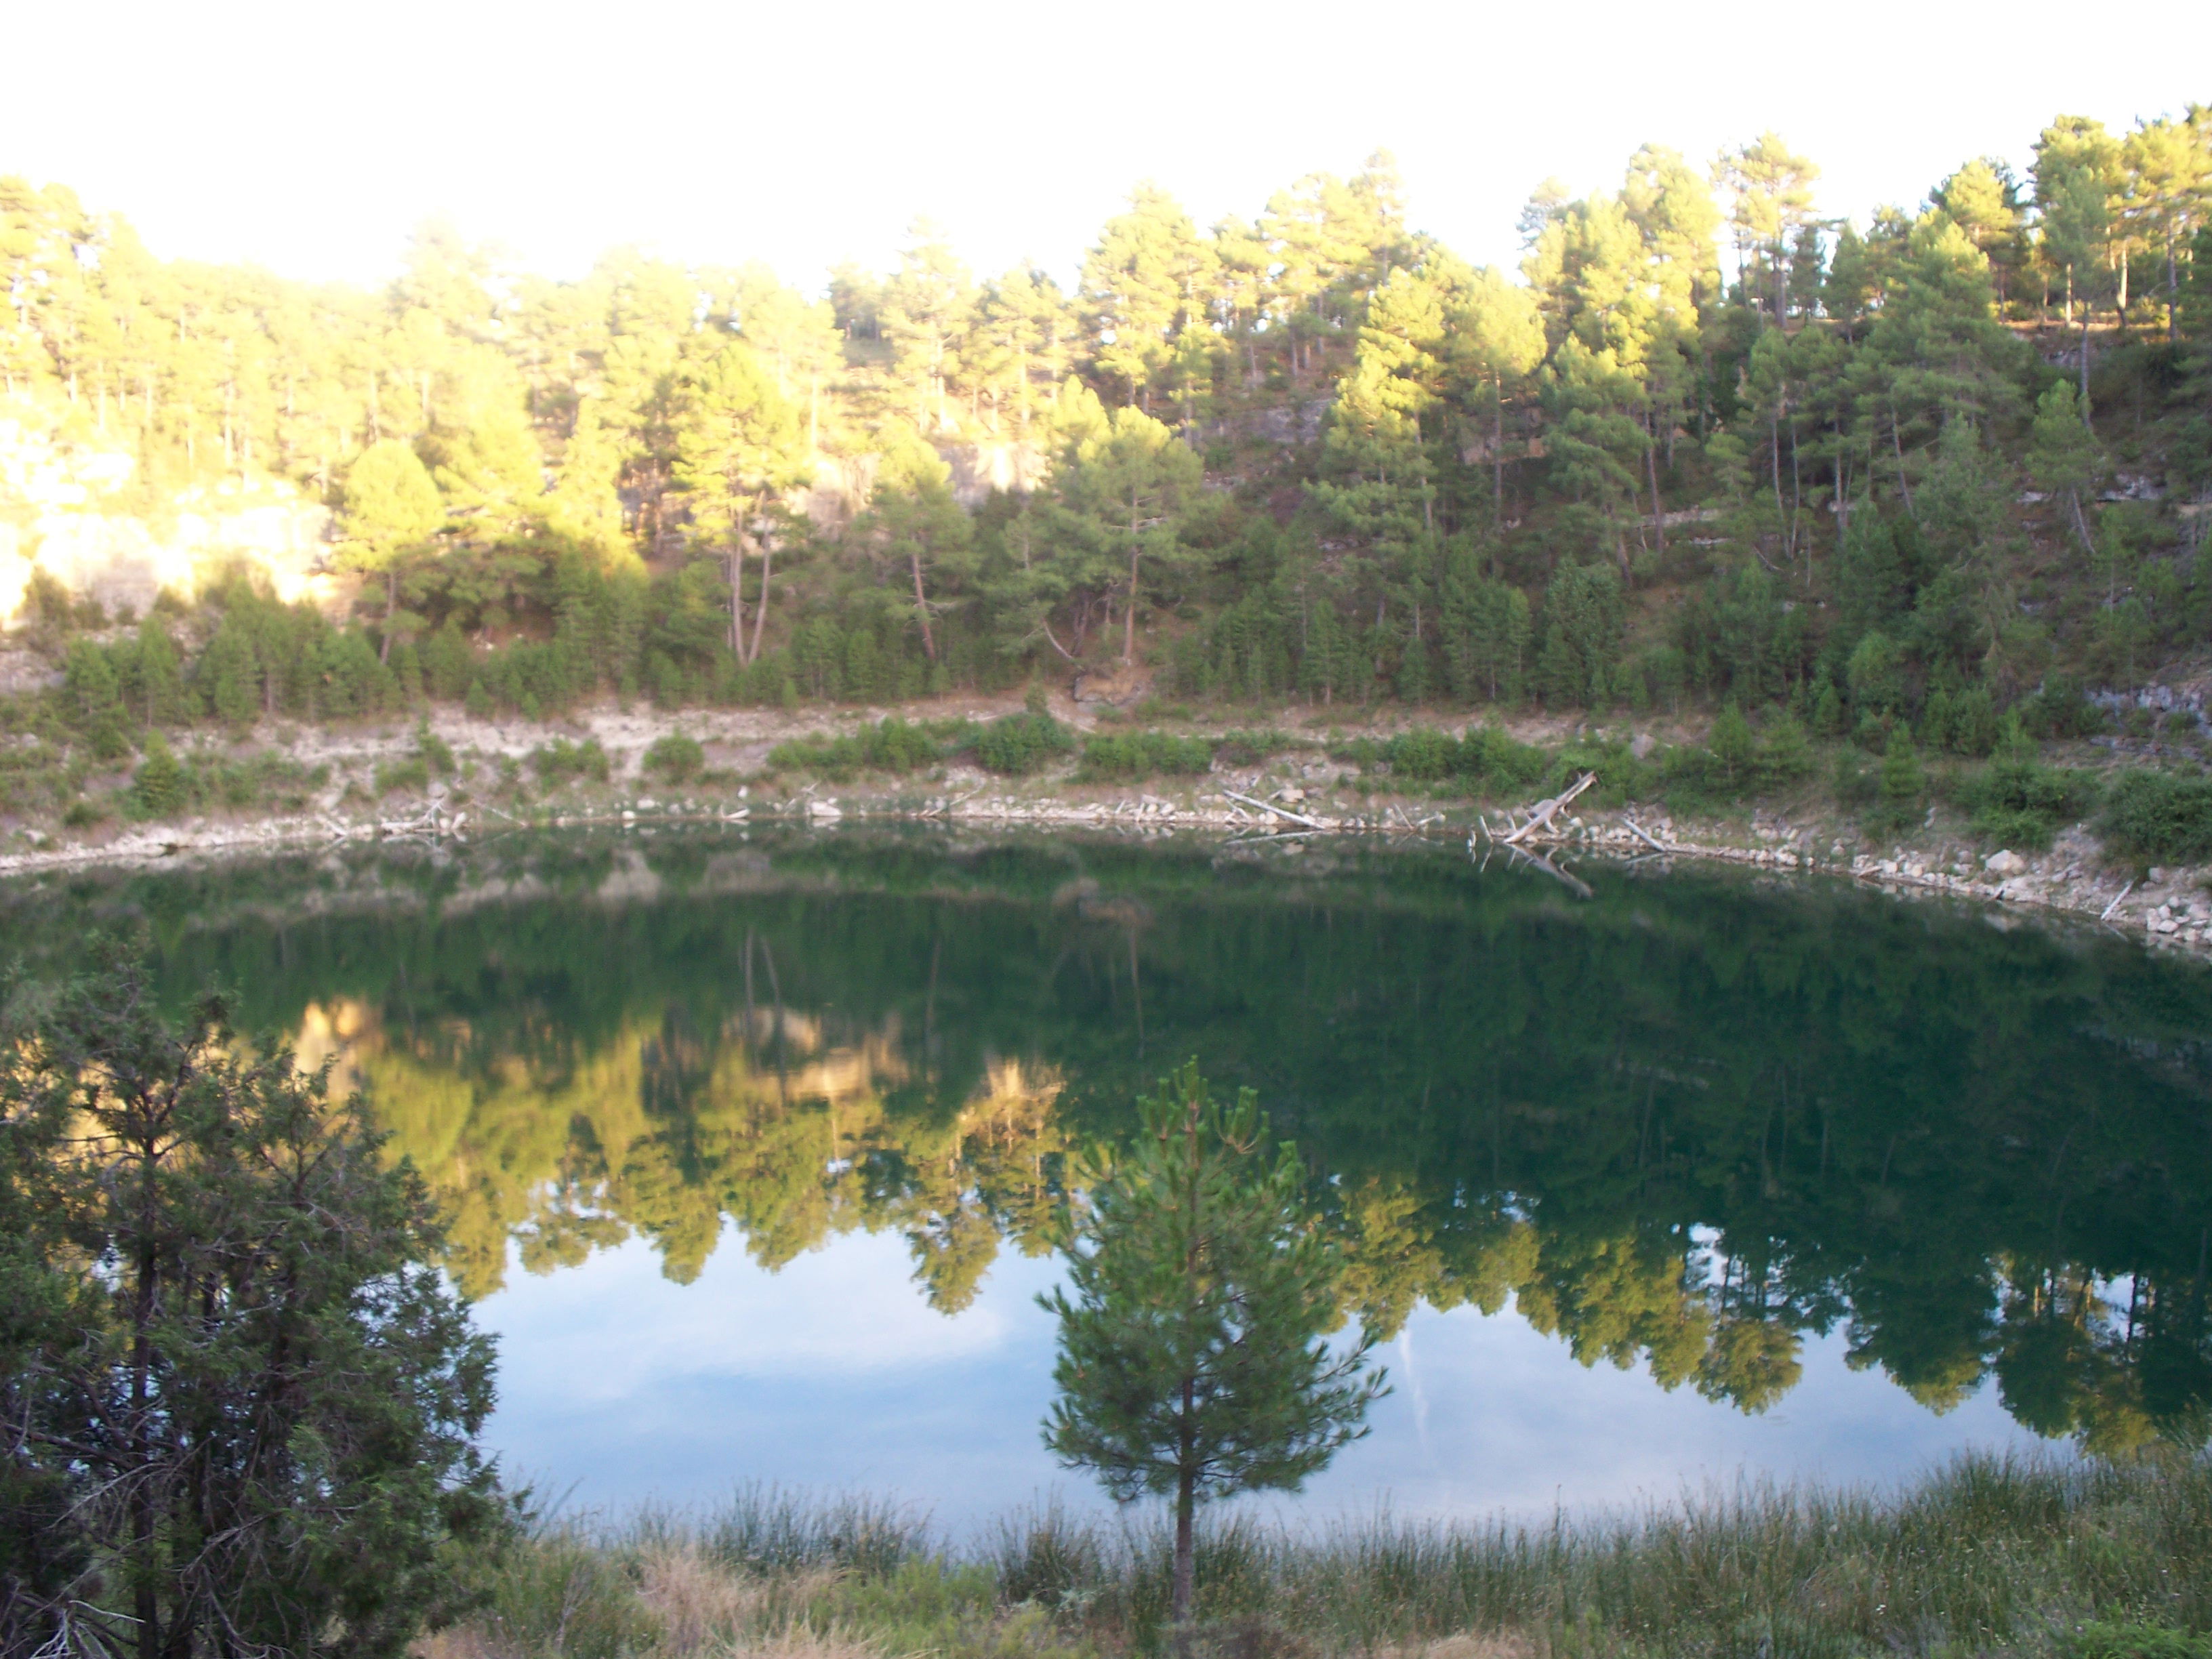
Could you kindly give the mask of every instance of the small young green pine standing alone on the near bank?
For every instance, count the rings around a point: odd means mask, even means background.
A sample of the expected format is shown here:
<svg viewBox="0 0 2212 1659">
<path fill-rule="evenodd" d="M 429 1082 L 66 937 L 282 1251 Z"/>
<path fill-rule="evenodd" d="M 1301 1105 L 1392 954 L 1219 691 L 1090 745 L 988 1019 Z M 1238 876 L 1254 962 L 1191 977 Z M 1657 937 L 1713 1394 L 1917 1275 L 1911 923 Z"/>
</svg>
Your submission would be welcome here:
<svg viewBox="0 0 2212 1659">
<path fill-rule="evenodd" d="M 1135 1148 L 1068 1250 L 1060 1400 L 1044 1442 L 1117 1502 L 1175 1498 L 1175 1624 L 1190 1621 L 1197 1506 L 1296 1491 L 1358 1440 L 1383 1374 L 1332 1352 L 1340 1265 L 1252 1091 L 1219 1106 L 1192 1060 L 1139 1102 Z M 1071 1296 L 1073 1292 L 1073 1296 Z"/>
</svg>

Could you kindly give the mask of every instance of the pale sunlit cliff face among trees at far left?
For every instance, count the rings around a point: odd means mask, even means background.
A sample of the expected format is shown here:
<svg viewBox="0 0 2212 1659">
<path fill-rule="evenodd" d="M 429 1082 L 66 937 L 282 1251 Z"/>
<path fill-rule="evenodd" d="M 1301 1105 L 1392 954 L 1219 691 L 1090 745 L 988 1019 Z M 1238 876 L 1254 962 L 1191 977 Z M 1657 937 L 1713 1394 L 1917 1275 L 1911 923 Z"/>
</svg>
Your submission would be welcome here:
<svg viewBox="0 0 2212 1659">
<path fill-rule="evenodd" d="M 195 484 L 146 511 L 126 504 L 135 458 L 97 438 L 64 438 L 38 411 L 0 416 L 0 617 L 22 613 L 31 568 L 108 611 L 144 613 L 164 586 L 190 597 L 243 560 L 279 599 L 336 602 L 325 571 L 330 509 L 281 480 Z"/>
</svg>

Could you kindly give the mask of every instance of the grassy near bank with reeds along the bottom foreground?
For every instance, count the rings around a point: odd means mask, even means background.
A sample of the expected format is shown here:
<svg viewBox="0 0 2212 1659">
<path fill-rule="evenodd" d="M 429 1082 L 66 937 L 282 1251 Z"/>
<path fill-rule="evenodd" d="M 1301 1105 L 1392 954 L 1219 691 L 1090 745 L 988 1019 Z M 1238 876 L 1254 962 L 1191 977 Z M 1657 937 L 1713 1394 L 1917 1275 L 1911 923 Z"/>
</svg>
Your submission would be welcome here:
<svg viewBox="0 0 2212 1659">
<path fill-rule="evenodd" d="M 540 1520 L 427 1659 L 1124 1655 L 1161 1628 L 1157 1526 L 1042 1511 L 953 1540 L 867 1500 Z M 1743 1486 L 1544 1524 L 1230 1515 L 1208 1655 L 2212 1655 L 2212 1460 L 1969 1458 L 1893 1495 Z"/>
</svg>

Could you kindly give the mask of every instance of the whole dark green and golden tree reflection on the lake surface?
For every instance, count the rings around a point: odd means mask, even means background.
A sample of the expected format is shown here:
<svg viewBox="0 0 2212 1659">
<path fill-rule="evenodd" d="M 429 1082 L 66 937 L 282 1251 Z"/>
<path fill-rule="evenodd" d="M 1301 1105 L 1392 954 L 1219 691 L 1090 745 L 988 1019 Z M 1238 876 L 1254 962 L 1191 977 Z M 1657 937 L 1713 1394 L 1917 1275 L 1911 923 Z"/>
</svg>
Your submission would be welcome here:
<svg viewBox="0 0 2212 1659">
<path fill-rule="evenodd" d="M 1993 1378 L 2112 1449 L 2212 1398 L 2194 969 L 1732 880 L 1593 872 L 1568 905 L 1420 858 L 655 858 L 653 902 L 593 887 L 637 858 L 573 856 L 469 907 L 270 922 L 257 894 L 195 929 L 221 894 L 142 883 L 15 922 L 128 900 L 175 918 L 177 987 L 347 1042 L 476 1292 L 509 1248 L 641 1234 L 690 1279 L 726 1223 L 768 1265 L 889 1228 L 960 1307 L 1002 1241 L 1044 1248 L 1068 1148 L 1201 1053 L 1325 1172 L 1380 1332 L 1511 1301 L 1586 1365 L 1756 1411 L 1840 1329 L 1933 1409 Z"/>
</svg>

